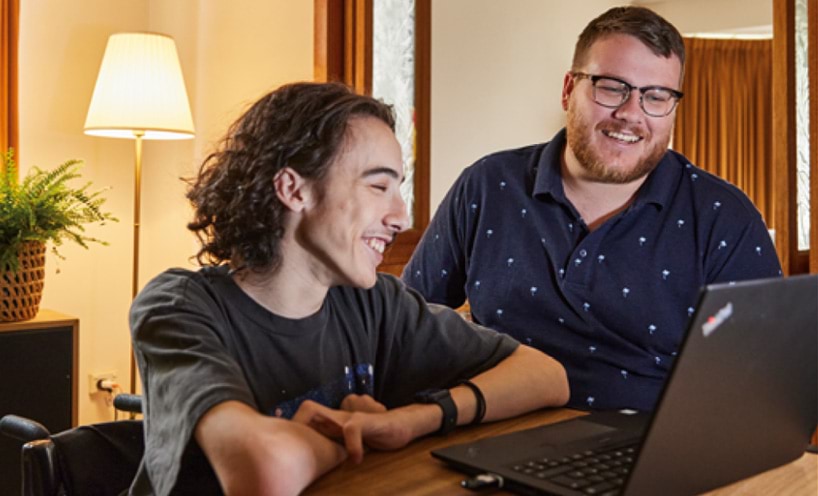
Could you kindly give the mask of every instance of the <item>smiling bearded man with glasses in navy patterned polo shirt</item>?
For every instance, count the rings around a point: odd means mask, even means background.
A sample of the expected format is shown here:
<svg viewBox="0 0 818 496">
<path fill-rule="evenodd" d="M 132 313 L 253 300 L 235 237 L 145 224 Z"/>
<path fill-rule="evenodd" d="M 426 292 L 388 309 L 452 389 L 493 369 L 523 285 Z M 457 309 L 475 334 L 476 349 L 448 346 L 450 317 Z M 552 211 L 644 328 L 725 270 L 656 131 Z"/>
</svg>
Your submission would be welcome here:
<svg viewBox="0 0 818 496">
<path fill-rule="evenodd" d="M 463 171 L 403 280 L 559 360 L 569 405 L 653 409 L 699 289 L 781 275 L 744 193 L 669 150 L 684 43 L 653 11 L 591 21 L 550 142 Z"/>
</svg>

